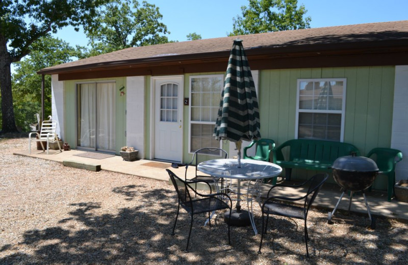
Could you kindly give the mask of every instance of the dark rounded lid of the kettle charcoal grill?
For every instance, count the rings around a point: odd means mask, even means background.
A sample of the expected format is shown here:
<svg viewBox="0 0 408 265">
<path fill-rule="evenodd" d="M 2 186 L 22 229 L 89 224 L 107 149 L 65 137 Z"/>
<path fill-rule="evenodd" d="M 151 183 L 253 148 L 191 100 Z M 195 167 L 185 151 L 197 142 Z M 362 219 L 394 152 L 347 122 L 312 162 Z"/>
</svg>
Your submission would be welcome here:
<svg viewBox="0 0 408 265">
<path fill-rule="evenodd" d="M 377 164 L 372 159 L 364 156 L 355 156 L 355 154 L 337 158 L 333 163 L 333 169 L 359 172 L 378 171 Z"/>
</svg>

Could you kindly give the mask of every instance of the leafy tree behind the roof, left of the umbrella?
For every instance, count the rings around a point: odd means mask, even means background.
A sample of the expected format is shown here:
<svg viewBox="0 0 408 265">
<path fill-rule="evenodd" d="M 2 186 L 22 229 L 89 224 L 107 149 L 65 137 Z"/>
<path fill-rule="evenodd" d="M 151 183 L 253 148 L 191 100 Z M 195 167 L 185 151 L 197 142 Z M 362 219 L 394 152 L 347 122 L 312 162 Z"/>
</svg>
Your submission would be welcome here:
<svg viewBox="0 0 408 265">
<path fill-rule="evenodd" d="M 133 4 L 133 8 L 131 5 Z M 159 8 L 146 1 L 113 0 L 98 9 L 97 18 L 84 26 L 91 50 L 84 56 L 119 49 L 167 43 L 167 26 L 160 22 Z"/>
</svg>

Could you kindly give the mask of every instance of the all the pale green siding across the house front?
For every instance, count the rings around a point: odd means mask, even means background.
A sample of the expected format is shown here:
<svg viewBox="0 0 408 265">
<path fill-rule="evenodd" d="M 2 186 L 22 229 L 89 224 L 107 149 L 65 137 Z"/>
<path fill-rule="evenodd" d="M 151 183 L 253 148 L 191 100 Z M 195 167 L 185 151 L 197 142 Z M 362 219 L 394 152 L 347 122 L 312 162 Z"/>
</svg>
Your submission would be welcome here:
<svg viewBox="0 0 408 265">
<path fill-rule="evenodd" d="M 184 97 L 189 97 L 190 76 L 224 74 L 224 72 L 192 73 L 184 75 Z M 384 67 L 338 67 L 262 70 L 259 73 L 259 105 L 261 135 L 273 139 L 277 145 L 295 136 L 296 94 L 298 78 L 347 78 L 344 142 L 354 144 L 362 155 L 373 147 L 390 147 L 394 95 L 394 66 Z M 150 80 L 146 76 L 145 97 L 145 146 L 146 158 L 150 157 Z M 110 78 L 116 87 L 125 85 L 126 78 Z M 75 143 L 75 83 L 99 80 L 75 80 L 64 83 L 65 96 L 65 136 L 66 141 Z M 119 95 L 119 92 L 118 92 Z M 116 102 L 117 144 L 116 151 L 125 145 L 126 127 L 125 96 L 117 97 Z M 183 162 L 191 161 L 188 150 L 189 107 L 183 107 Z M 68 115 L 67 115 L 68 114 Z M 223 141 L 222 148 L 228 150 L 230 142 Z M 74 146 L 71 144 L 71 146 Z M 212 156 L 206 157 L 208 159 Z M 310 176 L 311 171 L 294 171 L 294 177 Z M 301 177 L 300 177 L 301 178 Z M 384 179 L 377 179 L 374 188 L 385 189 Z M 332 180 L 333 181 L 333 180 Z"/>
</svg>

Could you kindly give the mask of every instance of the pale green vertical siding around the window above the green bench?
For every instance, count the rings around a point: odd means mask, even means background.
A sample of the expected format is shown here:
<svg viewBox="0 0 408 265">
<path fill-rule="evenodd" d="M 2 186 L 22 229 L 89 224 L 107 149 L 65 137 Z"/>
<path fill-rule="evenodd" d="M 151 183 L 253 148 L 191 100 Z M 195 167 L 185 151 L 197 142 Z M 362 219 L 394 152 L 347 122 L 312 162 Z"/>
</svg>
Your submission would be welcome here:
<svg viewBox="0 0 408 265">
<path fill-rule="evenodd" d="M 347 78 L 344 142 L 362 155 L 374 147 L 390 147 L 394 76 L 394 66 L 260 71 L 262 137 L 276 145 L 294 138 L 298 78 Z M 304 170 L 292 174 L 311 175 Z M 376 180 L 374 188 L 386 189 L 382 182 Z"/>
</svg>

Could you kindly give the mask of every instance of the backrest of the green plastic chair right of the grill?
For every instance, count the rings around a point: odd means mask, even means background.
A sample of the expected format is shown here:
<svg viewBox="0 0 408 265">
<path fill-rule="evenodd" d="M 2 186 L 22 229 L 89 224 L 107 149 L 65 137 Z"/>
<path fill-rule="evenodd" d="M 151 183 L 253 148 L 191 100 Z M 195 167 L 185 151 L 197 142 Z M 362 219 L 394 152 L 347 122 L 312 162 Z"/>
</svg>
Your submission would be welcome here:
<svg viewBox="0 0 408 265">
<path fill-rule="evenodd" d="M 394 171 L 397 162 L 402 160 L 402 152 L 397 149 L 377 147 L 368 152 L 367 157 L 375 161 L 379 171 L 390 172 Z"/>
</svg>

